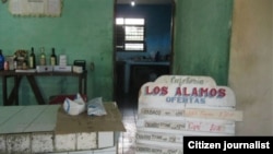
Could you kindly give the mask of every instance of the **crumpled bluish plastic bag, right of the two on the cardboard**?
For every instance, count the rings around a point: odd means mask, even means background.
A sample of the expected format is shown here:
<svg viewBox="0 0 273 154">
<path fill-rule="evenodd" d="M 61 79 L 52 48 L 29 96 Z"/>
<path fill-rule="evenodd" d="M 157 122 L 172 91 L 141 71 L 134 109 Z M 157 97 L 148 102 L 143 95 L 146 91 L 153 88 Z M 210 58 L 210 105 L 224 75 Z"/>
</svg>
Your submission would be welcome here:
<svg viewBox="0 0 273 154">
<path fill-rule="evenodd" d="M 103 105 L 103 98 L 96 97 L 87 102 L 87 115 L 88 116 L 104 116 L 107 115 Z"/>
</svg>

